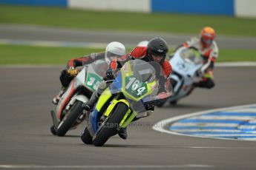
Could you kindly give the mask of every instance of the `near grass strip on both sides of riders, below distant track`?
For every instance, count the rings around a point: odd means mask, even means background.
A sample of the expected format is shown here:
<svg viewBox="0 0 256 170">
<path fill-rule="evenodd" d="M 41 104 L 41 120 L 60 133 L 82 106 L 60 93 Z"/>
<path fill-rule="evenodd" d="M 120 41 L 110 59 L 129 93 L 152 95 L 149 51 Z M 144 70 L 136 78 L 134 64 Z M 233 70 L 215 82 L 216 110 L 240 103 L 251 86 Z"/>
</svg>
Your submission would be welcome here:
<svg viewBox="0 0 256 170">
<path fill-rule="evenodd" d="M 34 47 L 0 45 L 0 65 L 67 64 L 70 58 L 82 57 L 104 49 L 75 47 Z M 131 49 L 130 49 L 131 50 Z M 256 50 L 222 50 L 219 61 L 256 61 Z"/>
</svg>

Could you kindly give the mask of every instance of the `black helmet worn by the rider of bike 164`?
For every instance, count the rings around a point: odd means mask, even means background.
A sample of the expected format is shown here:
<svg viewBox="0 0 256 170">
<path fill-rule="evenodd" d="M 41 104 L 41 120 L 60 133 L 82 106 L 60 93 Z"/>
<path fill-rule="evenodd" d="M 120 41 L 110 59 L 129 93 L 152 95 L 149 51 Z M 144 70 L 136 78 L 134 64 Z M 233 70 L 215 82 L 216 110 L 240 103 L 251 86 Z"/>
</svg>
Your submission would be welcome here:
<svg viewBox="0 0 256 170">
<path fill-rule="evenodd" d="M 166 54 L 168 52 L 168 45 L 163 38 L 156 37 L 148 41 L 148 61 L 154 61 L 152 55 L 162 55 L 163 59 L 160 61 L 162 65 L 165 61 Z"/>
</svg>

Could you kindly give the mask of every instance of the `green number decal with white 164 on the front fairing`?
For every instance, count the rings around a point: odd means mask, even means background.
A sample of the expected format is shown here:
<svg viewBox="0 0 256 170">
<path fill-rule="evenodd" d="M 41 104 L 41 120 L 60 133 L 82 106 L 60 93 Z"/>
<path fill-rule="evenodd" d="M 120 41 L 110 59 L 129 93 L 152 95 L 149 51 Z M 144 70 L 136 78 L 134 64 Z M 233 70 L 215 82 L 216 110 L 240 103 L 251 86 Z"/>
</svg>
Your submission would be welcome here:
<svg viewBox="0 0 256 170">
<path fill-rule="evenodd" d="M 148 92 L 147 84 L 137 80 L 133 76 L 126 77 L 125 84 L 125 90 L 135 98 L 140 98 L 140 96 Z"/>
</svg>

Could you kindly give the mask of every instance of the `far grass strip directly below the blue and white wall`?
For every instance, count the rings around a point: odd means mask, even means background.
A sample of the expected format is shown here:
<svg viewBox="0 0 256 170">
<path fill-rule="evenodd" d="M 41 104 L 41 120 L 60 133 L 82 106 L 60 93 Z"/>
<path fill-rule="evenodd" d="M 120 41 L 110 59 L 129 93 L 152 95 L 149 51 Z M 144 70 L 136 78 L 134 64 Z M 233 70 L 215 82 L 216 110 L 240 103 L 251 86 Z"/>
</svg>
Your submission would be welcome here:
<svg viewBox="0 0 256 170">
<path fill-rule="evenodd" d="M 217 35 L 256 36 L 256 19 L 170 13 L 124 13 L 68 10 L 56 7 L 0 5 L 0 23 L 35 24 L 83 30 L 157 31 L 197 34 L 205 26 Z"/>
</svg>

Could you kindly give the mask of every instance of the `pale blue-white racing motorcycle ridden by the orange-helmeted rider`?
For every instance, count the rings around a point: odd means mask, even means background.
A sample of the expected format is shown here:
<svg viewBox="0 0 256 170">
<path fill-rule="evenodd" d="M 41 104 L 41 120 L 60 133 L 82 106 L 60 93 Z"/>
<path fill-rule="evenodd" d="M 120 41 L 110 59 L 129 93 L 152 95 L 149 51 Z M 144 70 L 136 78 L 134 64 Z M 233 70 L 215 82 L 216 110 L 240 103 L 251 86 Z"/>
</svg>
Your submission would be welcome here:
<svg viewBox="0 0 256 170">
<path fill-rule="evenodd" d="M 172 95 L 157 106 L 163 106 L 165 102 L 177 104 L 181 98 L 185 98 L 194 88 L 192 84 L 200 77 L 197 71 L 203 66 L 203 58 L 194 48 L 180 47 L 170 58 L 172 66 L 171 82 Z"/>
</svg>

